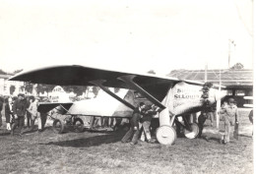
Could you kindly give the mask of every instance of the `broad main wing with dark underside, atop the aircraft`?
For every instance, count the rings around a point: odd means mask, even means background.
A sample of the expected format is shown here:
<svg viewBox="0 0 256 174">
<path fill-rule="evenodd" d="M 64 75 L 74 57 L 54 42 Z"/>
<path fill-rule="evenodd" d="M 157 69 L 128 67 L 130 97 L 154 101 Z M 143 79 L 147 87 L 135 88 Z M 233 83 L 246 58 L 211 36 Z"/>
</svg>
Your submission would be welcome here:
<svg viewBox="0 0 256 174">
<path fill-rule="evenodd" d="M 117 78 L 128 75 L 135 76 L 133 81 L 159 100 L 163 99 L 170 87 L 181 82 L 181 80 L 171 77 L 117 72 L 79 65 L 54 66 L 22 72 L 9 80 L 58 86 L 95 86 L 91 83 L 92 81 L 104 80 L 104 87 L 128 88 L 125 83 L 117 80 Z M 203 83 L 199 82 L 183 82 L 203 86 Z"/>
</svg>

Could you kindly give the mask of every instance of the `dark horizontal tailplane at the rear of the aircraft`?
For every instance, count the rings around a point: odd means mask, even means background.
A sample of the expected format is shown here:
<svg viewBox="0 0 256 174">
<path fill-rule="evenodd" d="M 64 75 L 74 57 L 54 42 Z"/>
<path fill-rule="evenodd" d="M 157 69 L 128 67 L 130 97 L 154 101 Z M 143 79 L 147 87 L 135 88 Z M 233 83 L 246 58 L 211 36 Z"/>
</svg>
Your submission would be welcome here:
<svg viewBox="0 0 256 174">
<path fill-rule="evenodd" d="M 66 110 L 69 110 L 69 108 L 72 106 L 73 102 L 66 102 L 66 103 L 60 103 L 60 102 L 39 102 L 38 103 L 38 108 L 37 111 L 38 112 L 43 112 L 46 113 L 52 109 L 54 109 L 55 107 L 61 105 L 62 107 L 64 107 Z"/>
</svg>

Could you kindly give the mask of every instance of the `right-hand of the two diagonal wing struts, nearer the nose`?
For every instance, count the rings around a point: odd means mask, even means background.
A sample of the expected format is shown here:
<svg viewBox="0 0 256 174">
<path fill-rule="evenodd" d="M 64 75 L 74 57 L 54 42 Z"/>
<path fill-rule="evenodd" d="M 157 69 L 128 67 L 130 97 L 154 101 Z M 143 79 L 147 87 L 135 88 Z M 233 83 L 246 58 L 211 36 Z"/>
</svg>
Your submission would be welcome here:
<svg viewBox="0 0 256 174">
<path fill-rule="evenodd" d="M 119 77 L 118 79 L 126 83 L 128 86 L 132 87 L 133 89 L 141 92 L 145 97 L 147 97 L 151 102 L 159 106 L 161 109 L 165 109 L 165 106 L 160 103 L 160 101 L 155 98 L 153 95 L 151 95 L 149 92 L 147 92 L 145 89 L 137 85 L 136 83 L 133 82 L 133 79 L 136 76 L 134 75 L 128 75 L 128 76 L 122 76 Z"/>
</svg>

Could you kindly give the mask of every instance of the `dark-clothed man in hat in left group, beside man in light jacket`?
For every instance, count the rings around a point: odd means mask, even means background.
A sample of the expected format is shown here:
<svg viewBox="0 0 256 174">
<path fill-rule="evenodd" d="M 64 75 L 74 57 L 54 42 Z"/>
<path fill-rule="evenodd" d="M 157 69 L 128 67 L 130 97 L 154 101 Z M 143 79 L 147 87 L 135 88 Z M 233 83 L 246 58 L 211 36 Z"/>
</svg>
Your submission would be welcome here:
<svg viewBox="0 0 256 174">
<path fill-rule="evenodd" d="M 25 119 L 25 114 L 27 110 L 27 105 L 23 100 L 24 100 L 24 94 L 19 93 L 18 99 L 14 102 L 14 105 L 13 105 L 13 114 L 15 118 L 15 123 L 12 126 L 11 135 L 14 135 L 14 130 L 17 128 L 17 126 L 19 128 L 20 135 L 23 134 L 22 129 L 24 126 L 24 119 Z"/>
</svg>

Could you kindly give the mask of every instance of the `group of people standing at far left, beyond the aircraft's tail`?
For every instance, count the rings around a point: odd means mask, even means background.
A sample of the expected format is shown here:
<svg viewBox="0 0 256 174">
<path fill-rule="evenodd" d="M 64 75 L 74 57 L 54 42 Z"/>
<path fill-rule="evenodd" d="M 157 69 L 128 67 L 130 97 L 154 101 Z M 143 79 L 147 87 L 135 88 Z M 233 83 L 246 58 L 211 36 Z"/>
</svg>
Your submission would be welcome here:
<svg viewBox="0 0 256 174">
<path fill-rule="evenodd" d="M 38 132 L 42 131 L 40 113 L 37 112 L 39 97 L 25 96 L 19 93 L 18 97 L 7 97 L 0 99 L 0 111 L 5 107 L 6 130 L 13 136 L 15 133 L 23 135 L 26 131 L 33 131 L 35 120 L 37 120 Z M 5 103 L 5 104 L 4 104 Z M 27 123 L 25 123 L 27 121 Z M 2 126 L 2 115 L 0 126 Z"/>
</svg>

